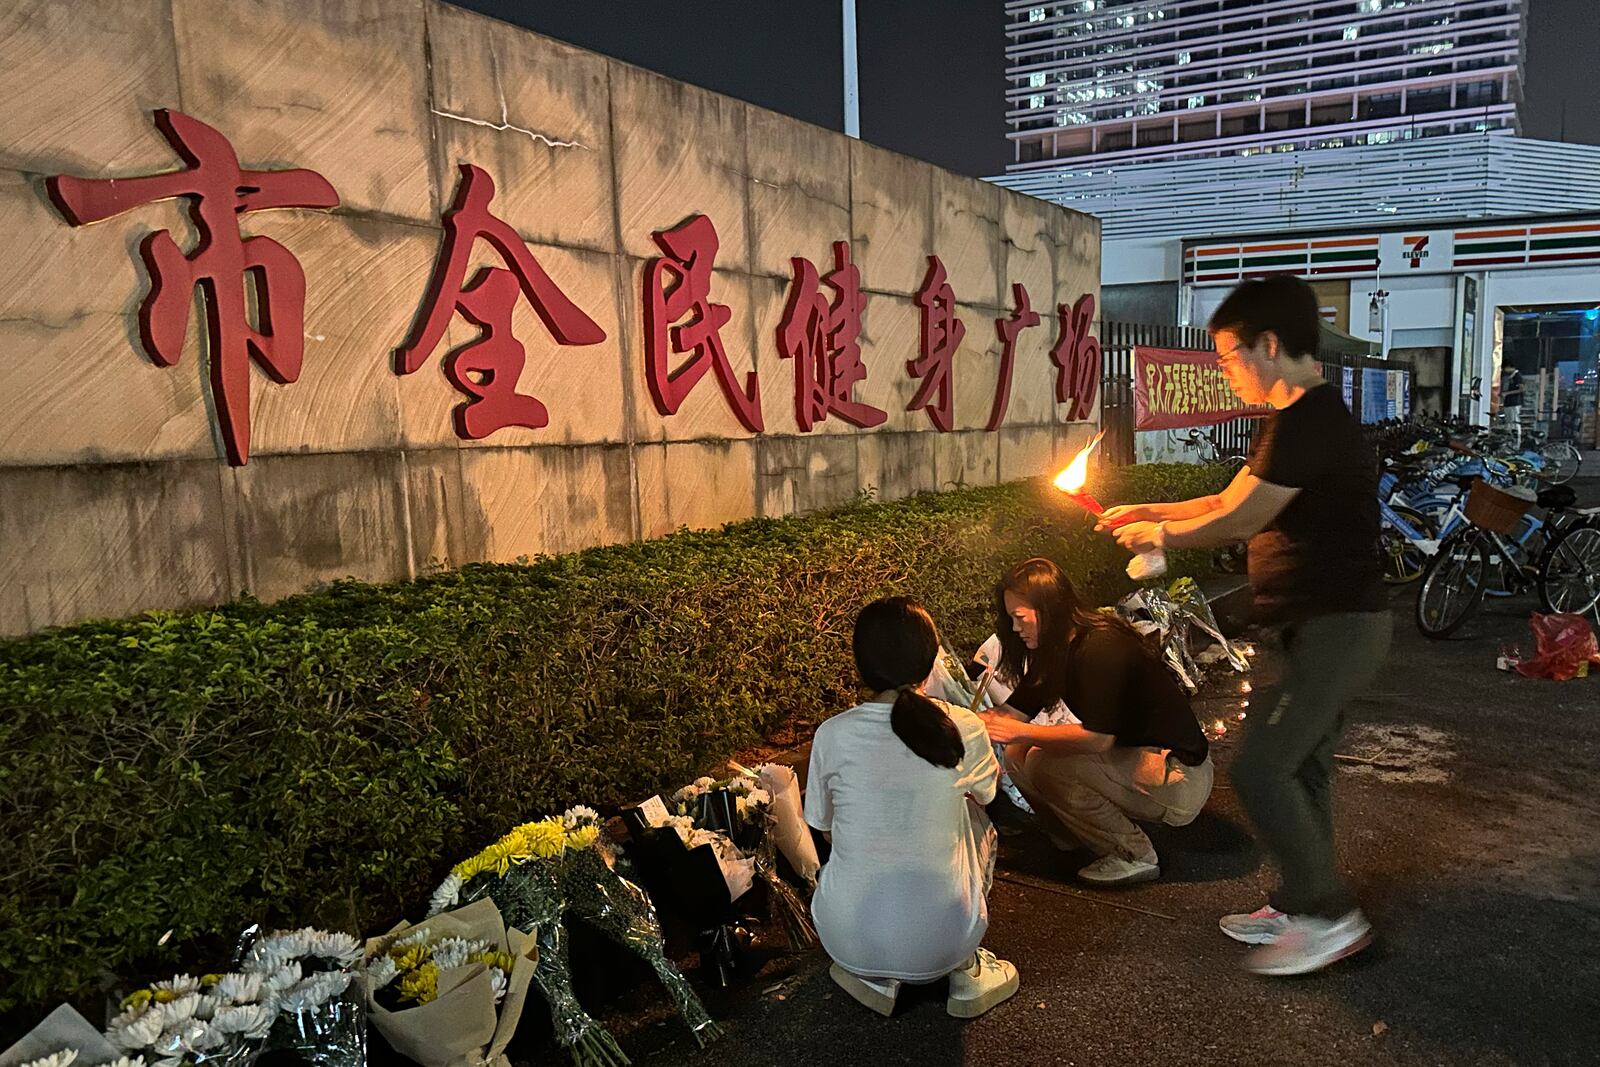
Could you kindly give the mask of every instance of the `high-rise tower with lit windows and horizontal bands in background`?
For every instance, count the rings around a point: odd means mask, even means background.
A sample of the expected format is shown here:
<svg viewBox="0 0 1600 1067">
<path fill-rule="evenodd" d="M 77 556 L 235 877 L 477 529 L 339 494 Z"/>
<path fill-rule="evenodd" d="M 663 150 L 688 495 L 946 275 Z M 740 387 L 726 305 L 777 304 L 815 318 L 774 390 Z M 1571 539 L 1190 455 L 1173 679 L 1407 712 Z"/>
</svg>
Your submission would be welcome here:
<svg viewBox="0 0 1600 1067">
<path fill-rule="evenodd" d="M 1006 0 L 1011 174 L 1517 133 L 1523 0 Z"/>
</svg>

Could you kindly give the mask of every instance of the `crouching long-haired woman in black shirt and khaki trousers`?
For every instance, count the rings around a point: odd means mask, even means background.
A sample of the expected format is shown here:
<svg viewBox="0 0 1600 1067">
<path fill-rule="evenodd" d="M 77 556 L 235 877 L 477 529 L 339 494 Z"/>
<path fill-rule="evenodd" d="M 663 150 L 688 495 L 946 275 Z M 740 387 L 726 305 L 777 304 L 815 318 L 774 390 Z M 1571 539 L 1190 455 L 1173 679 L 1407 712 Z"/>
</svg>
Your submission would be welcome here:
<svg viewBox="0 0 1600 1067">
<path fill-rule="evenodd" d="M 1013 568 L 995 609 L 995 673 L 1014 691 L 984 721 L 1006 745 L 1011 781 L 1058 846 L 1075 838 L 1099 856 L 1078 872 L 1085 881 L 1158 878 L 1155 848 L 1134 819 L 1187 825 L 1211 795 L 1211 758 L 1189 697 L 1130 625 L 1083 608 L 1050 560 Z M 1058 723 L 1032 721 L 1053 709 Z"/>
</svg>

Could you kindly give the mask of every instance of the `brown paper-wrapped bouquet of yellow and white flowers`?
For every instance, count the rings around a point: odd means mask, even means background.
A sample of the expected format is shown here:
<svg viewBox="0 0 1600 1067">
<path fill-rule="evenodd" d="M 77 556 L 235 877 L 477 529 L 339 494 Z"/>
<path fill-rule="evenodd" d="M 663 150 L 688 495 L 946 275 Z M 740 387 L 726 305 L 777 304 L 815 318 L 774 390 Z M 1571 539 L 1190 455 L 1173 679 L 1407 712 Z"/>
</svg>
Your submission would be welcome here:
<svg viewBox="0 0 1600 1067">
<path fill-rule="evenodd" d="M 422 1067 L 509 1067 L 539 950 L 494 901 L 400 923 L 366 942 L 373 1025 Z"/>
</svg>

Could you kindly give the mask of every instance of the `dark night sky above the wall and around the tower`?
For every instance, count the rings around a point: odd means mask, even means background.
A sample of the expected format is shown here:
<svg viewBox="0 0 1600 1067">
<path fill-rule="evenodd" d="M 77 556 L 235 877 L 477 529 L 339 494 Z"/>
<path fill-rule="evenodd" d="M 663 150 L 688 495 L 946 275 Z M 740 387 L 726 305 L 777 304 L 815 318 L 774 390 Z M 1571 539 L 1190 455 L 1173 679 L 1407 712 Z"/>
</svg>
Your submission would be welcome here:
<svg viewBox="0 0 1600 1067">
<path fill-rule="evenodd" d="M 453 0 L 819 126 L 843 126 L 837 0 Z M 1600 0 L 1526 0 L 1523 133 L 1600 144 Z M 858 0 L 861 136 L 954 171 L 998 174 L 1002 0 Z"/>
</svg>

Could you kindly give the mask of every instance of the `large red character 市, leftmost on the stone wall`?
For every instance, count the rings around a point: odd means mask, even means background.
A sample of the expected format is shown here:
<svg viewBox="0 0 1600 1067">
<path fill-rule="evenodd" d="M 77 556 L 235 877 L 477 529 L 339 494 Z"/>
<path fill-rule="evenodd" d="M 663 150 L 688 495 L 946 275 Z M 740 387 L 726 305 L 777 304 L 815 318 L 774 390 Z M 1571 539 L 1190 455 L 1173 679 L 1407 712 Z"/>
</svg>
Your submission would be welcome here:
<svg viewBox="0 0 1600 1067">
<path fill-rule="evenodd" d="M 306 272 L 270 237 L 242 237 L 238 216 L 269 208 L 333 208 L 339 194 L 307 170 L 250 171 L 227 138 L 197 118 L 157 110 L 155 126 L 189 166 L 144 178 L 72 178 L 45 186 L 72 226 L 99 222 L 131 208 L 189 197 L 200 240 L 187 256 L 170 230 L 139 242 L 150 294 L 139 306 L 139 338 L 150 362 L 174 366 L 189 331 L 190 294 L 205 301 L 211 395 L 230 464 L 250 461 L 250 362 L 286 386 L 304 357 Z M 254 293 L 251 325 L 246 286 Z"/>
</svg>

